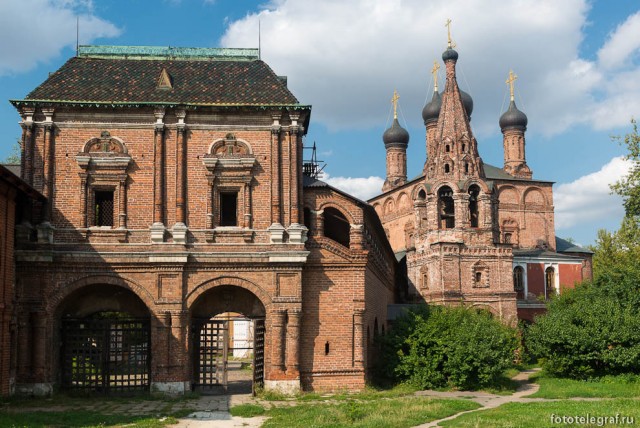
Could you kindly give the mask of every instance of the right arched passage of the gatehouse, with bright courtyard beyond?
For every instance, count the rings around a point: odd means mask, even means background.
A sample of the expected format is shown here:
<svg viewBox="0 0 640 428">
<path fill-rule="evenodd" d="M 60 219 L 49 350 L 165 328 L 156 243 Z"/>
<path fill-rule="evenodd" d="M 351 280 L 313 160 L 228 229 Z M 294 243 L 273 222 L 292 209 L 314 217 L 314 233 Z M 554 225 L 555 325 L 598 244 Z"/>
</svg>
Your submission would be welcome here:
<svg viewBox="0 0 640 428">
<path fill-rule="evenodd" d="M 250 290 L 219 285 L 191 306 L 193 388 L 250 393 L 264 384 L 266 308 Z"/>
</svg>

